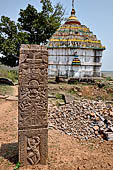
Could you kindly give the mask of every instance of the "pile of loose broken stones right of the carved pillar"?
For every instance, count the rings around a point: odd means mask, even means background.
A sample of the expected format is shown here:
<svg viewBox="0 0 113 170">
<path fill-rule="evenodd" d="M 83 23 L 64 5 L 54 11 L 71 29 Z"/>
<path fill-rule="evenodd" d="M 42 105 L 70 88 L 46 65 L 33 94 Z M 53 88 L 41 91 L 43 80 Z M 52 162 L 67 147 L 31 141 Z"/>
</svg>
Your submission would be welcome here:
<svg viewBox="0 0 113 170">
<path fill-rule="evenodd" d="M 61 107 L 49 106 L 49 127 L 79 139 L 105 137 L 113 133 L 113 106 L 82 99 Z"/>
</svg>

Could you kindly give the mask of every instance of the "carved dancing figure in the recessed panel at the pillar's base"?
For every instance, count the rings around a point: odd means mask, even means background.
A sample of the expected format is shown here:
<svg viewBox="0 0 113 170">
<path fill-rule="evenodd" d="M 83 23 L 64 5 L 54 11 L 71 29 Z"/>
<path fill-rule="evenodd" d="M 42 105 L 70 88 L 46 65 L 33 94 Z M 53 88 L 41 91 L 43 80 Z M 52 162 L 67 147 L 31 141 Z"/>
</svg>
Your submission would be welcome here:
<svg viewBox="0 0 113 170">
<path fill-rule="evenodd" d="M 36 165 L 40 161 L 40 137 L 27 139 L 27 160 L 31 165 Z"/>
</svg>

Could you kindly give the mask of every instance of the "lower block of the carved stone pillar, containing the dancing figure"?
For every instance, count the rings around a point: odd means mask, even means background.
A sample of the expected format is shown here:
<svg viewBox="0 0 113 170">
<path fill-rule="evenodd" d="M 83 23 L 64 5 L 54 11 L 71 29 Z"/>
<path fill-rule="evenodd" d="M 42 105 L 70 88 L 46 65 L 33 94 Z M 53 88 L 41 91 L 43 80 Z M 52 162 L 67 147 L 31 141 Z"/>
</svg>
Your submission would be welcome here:
<svg viewBox="0 0 113 170">
<path fill-rule="evenodd" d="M 46 164 L 48 157 L 48 130 L 19 131 L 19 161 L 22 165 Z"/>
</svg>

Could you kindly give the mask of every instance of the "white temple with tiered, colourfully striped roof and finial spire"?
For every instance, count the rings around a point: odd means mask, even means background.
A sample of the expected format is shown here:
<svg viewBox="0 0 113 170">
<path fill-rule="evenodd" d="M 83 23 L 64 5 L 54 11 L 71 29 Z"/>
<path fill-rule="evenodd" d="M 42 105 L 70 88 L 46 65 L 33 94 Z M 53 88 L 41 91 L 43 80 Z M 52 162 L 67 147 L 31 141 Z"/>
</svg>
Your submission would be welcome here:
<svg viewBox="0 0 113 170">
<path fill-rule="evenodd" d="M 101 77 L 105 46 L 88 27 L 80 23 L 75 13 L 73 0 L 71 16 L 49 40 L 49 77 Z"/>
</svg>

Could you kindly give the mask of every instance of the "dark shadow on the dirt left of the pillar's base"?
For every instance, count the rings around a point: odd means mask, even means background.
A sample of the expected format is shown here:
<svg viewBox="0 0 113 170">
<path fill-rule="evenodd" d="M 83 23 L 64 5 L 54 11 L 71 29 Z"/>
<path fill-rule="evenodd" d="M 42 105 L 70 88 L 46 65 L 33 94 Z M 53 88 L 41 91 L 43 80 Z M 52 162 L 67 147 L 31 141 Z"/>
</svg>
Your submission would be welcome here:
<svg viewBox="0 0 113 170">
<path fill-rule="evenodd" d="M 0 148 L 0 157 L 3 157 L 15 164 L 18 162 L 18 143 L 2 144 Z"/>
</svg>

